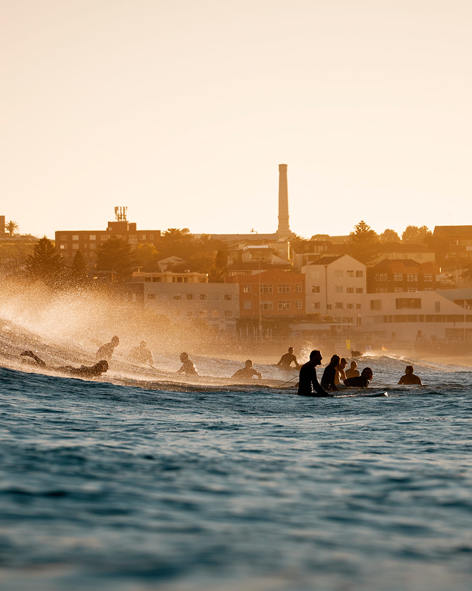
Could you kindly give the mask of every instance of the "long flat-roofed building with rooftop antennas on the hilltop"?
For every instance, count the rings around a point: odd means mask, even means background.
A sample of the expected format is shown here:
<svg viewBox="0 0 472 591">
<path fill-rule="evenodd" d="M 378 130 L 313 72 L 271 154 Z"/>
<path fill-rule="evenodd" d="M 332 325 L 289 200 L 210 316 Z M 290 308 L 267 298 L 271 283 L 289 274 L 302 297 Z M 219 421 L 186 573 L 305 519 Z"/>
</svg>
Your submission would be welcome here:
<svg viewBox="0 0 472 591">
<path fill-rule="evenodd" d="M 128 222 L 126 214 L 120 212 L 116 213 L 114 222 L 108 222 L 106 230 L 57 230 L 56 251 L 68 265 L 80 251 L 84 261 L 93 267 L 97 262 L 97 248 L 112 236 L 128 242 L 135 250 L 139 244 L 157 245 L 161 230 L 138 230 L 136 223 Z"/>
</svg>

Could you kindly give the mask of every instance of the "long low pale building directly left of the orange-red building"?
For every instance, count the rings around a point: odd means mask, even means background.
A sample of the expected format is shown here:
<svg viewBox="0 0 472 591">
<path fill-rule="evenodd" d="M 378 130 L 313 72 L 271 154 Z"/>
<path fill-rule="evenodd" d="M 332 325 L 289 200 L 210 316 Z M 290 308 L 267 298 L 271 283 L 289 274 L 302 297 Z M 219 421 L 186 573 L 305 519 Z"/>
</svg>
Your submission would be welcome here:
<svg viewBox="0 0 472 591">
<path fill-rule="evenodd" d="M 239 318 L 239 283 L 145 281 L 144 305 L 178 320 L 200 318 L 232 330 Z"/>
</svg>

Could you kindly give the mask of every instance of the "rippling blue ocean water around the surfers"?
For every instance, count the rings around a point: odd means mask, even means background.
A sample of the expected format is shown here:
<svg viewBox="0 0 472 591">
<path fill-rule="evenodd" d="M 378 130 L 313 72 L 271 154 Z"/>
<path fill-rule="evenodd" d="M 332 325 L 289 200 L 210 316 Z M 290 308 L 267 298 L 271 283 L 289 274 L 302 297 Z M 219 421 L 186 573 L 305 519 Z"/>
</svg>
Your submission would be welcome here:
<svg viewBox="0 0 472 591">
<path fill-rule="evenodd" d="M 367 358 L 388 397 L 318 399 L 268 365 L 227 385 L 225 359 L 193 384 L 171 356 L 40 374 L 8 342 L 0 589 L 470 589 L 470 369 L 414 360 L 425 385 L 397 387 L 411 360 Z"/>
</svg>

